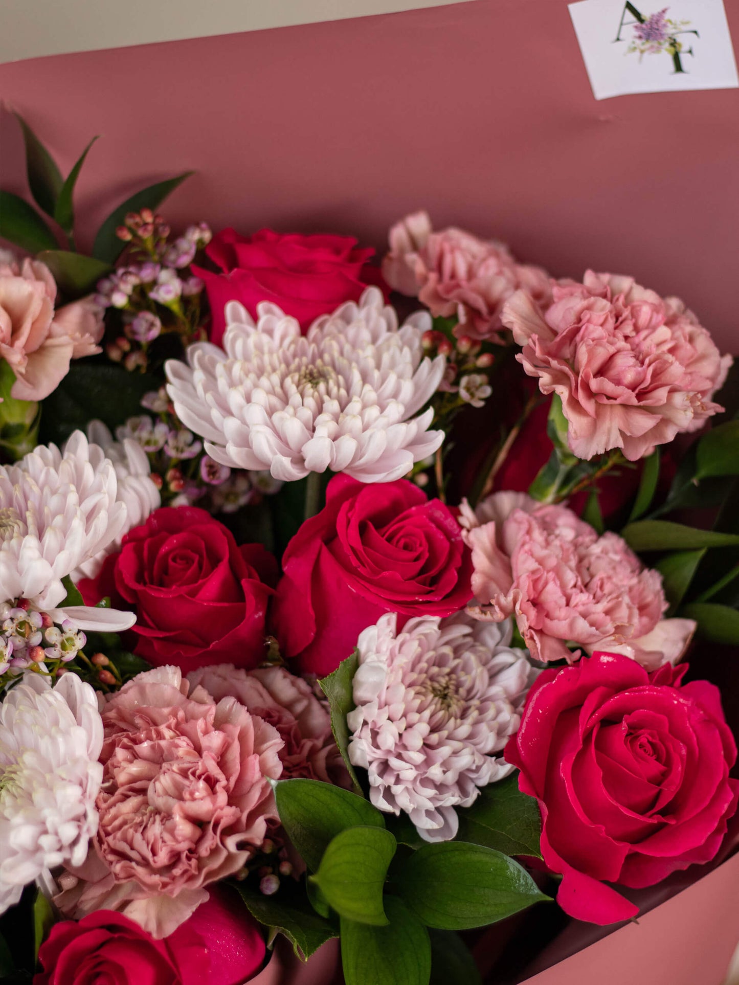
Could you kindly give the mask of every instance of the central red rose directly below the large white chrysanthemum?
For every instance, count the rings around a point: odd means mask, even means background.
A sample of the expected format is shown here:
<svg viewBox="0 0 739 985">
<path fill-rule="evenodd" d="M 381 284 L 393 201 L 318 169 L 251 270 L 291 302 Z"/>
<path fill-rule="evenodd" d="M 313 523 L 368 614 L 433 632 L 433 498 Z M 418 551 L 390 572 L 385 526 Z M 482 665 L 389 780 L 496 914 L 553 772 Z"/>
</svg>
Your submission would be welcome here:
<svg viewBox="0 0 739 985">
<path fill-rule="evenodd" d="M 386 612 L 450 616 L 472 597 L 472 562 L 451 510 L 399 479 L 328 484 L 326 507 L 306 520 L 283 557 L 275 634 L 302 671 L 330 674 Z"/>
</svg>

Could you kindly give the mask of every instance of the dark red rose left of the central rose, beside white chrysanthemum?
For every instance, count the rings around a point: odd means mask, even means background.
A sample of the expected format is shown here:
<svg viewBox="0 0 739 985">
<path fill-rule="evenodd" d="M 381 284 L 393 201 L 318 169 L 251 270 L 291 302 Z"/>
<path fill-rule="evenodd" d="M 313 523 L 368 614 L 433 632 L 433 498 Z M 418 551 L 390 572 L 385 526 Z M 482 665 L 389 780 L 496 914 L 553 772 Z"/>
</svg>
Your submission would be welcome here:
<svg viewBox="0 0 739 985">
<path fill-rule="evenodd" d="M 236 547 L 234 536 L 204 509 L 155 510 L 123 538 L 93 581 L 79 588 L 88 604 L 105 595 L 136 613 L 136 653 L 184 674 L 228 661 L 256 667 L 264 656 L 264 621 L 276 573 L 261 544 Z"/>
</svg>

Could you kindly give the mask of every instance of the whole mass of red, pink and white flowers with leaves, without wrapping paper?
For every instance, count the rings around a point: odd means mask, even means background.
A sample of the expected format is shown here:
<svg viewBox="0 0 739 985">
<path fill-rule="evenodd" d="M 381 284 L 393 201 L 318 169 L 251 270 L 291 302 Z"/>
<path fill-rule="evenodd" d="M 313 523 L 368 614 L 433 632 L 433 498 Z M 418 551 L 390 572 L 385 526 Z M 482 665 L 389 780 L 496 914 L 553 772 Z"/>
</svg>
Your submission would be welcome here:
<svg viewBox="0 0 739 985">
<path fill-rule="evenodd" d="M 520 980 L 532 928 L 726 855 L 739 422 L 697 316 L 426 213 L 380 264 L 173 235 L 186 175 L 79 252 L 90 147 L 64 178 L 21 123 L 3 980 Z"/>
</svg>

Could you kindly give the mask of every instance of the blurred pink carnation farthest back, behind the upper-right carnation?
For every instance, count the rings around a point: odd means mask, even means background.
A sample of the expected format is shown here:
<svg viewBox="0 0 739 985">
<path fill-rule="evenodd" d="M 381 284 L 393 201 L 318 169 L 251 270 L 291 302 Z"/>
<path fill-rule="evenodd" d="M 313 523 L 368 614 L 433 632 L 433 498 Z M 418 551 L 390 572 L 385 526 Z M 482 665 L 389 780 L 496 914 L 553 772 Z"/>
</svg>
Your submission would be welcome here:
<svg viewBox="0 0 739 985">
<path fill-rule="evenodd" d="M 418 296 L 433 315 L 456 315 L 455 335 L 502 342 L 501 310 L 519 288 L 542 301 L 551 298 L 540 267 L 516 263 L 504 243 L 463 230 L 433 232 L 426 212 L 407 216 L 390 230 L 382 275 L 395 291 Z"/>
</svg>

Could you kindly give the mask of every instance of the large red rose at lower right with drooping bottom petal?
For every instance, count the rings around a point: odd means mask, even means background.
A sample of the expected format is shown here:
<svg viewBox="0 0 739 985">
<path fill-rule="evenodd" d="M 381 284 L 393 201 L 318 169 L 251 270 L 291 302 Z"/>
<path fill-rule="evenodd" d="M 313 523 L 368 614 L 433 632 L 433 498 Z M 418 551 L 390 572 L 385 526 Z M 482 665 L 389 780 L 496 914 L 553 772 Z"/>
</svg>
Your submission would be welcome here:
<svg viewBox="0 0 739 985">
<path fill-rule="evenodd" d="M 708 862 L 736 810 L 736 760 L 718 689 L 681 685 L 683 665 L 653 674 L 595 653 L 546 670 L 505 749 L 536 797 L 557 901 L 578 920 L 628 920 L 638 907 L 603 882 L 641 888 Z"/>
</svg>

